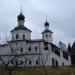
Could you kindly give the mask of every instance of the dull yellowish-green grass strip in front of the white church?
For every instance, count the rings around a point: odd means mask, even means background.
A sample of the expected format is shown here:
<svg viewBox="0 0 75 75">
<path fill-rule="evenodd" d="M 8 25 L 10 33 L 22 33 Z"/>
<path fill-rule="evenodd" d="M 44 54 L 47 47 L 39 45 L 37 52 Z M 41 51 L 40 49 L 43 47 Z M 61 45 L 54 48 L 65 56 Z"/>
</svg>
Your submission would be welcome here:
<svg viewBox="0 0 75 75">
<path fill-rule="evenodd" d="M 45 70 L 47 75 L 71 75 L 72 73 L 75 75 L 75 67 L 45 67 Z M 45 70 L 43 67 L 18 68 L 12 70 L 12 75 L 45 75 Z M 9 71 L 0 69 L 0 75 L 9 75 Z"/>
</svg>

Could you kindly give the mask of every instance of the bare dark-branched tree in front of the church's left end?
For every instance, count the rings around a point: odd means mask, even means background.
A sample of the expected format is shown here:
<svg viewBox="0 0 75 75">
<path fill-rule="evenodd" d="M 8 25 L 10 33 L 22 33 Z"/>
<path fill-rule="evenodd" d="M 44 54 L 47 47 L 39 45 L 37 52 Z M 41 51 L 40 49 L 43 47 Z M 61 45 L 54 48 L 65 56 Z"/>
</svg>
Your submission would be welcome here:
<svg viewBox="0 0 75 75">
<path fill-rule="evenodd" d="M 8 43 L 10 51 L 5 55 L 0 55 L 0 62 L 2 63 L 0 67 L 9 71 L 9 74 L 12 75 L 12 71 L 16 69 L 18 66 L 17 58 L 21 56 L 21 54 L 14 54 L 15 51 L 18 50 L 19 46 L 12 51 L 12 46 Z M 12 64 L 11 64 L 12 63 Z"/>
</svg>

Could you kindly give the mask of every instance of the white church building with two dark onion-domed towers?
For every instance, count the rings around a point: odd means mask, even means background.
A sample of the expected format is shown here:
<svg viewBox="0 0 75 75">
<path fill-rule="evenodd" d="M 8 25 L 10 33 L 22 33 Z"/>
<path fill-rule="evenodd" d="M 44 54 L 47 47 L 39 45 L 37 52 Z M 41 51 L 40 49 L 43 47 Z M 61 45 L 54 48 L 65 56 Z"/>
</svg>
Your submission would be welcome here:
<svg viewBox="0 0 75 75">
<path fill-rule="evenodd" d="M 32 31 L 24 26 L 25 16 L 22 12 L 17 17 L 18 25 L 11 30 L 11 40 L 0 44 L 0 56 L 8 65 L 16 66 L 70 66 L 71 59 L 65 44 L 53 43 L 53 32 L 49 22 L 44 23 L 45 29 L 40 32 L 41 39 L 31 39 Z M 0 58 L 0 65 L 3 64 Z M 11 60 L 13 59 L 13 60 Z M 11 60 L 11 61 L 10 61 Z"/>
</svg>

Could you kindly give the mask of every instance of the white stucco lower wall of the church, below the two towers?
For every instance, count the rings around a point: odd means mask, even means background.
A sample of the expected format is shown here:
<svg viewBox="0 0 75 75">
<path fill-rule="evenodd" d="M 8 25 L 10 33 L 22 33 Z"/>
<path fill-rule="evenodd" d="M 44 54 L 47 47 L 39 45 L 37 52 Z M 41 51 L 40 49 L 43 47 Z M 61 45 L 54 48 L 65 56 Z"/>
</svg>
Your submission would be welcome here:
<svg viewBox="0 0 75 75">
<path fill-rule="evenodd" d="M 25 62 L 24 64 L 20 66 L 40 66 L 40 65 L 46 65 L 46 66 L 52 66 L 52 58 L 58 61 L 58 66 L 62 66 L 62 63 L 64 65 L 71 65 L 71 59 L 69 57 L 69 60 L 66 60 L 63 58 L 62 50 L 60 50 L 60 56 L 56 55 L 54 52 L 52 52 L 51 44 L 48 44 L 48 50 L 44 50 L 44 42 L 26 42 L 26 41 L 14 41 L 10 42 L 10 45 L 4 45 L 0 46 L 0 55 L 2 54 L 12 54 L 11 48 L 13 50 L 16 50 L 15 54 L 21 54 L 21 48 L 23 48 L 22 54 L 30 54 L 21 56 L 18 58 L 18 63 L 20 61 Z M 31 47 L 31 51 L 28 51 L 28 48 Z M 35 47 L 37 47 L 37 51 L 35 50 Z M 40 53 L 41 55 L 38 55 L 37 53 Z M 6 60 L 6 59 L 4 59 Z M 31 60 L 31 65 L 29 65 L 29 60 Z M 39 61 L 39 64 L 36 65 L 36 60 Z"/>
</svg>

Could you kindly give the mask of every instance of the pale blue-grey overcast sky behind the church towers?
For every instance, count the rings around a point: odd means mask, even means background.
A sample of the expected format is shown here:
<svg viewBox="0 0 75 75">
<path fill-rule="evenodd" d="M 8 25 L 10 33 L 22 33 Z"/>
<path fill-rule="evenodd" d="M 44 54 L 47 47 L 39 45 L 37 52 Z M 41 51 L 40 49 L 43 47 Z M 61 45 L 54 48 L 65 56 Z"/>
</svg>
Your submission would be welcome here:
<svg viewBox="0 0 75 75">
<path fill-rule="evenodd" d="M 32 30 L 32 39 L 41 38 L 47 16 L 55 43 L 68 44 L 75 40 L 75 0 L 1 0 L 0 42 L 17 26 L 21 6 L 25 26 Z"/>
</svg>

